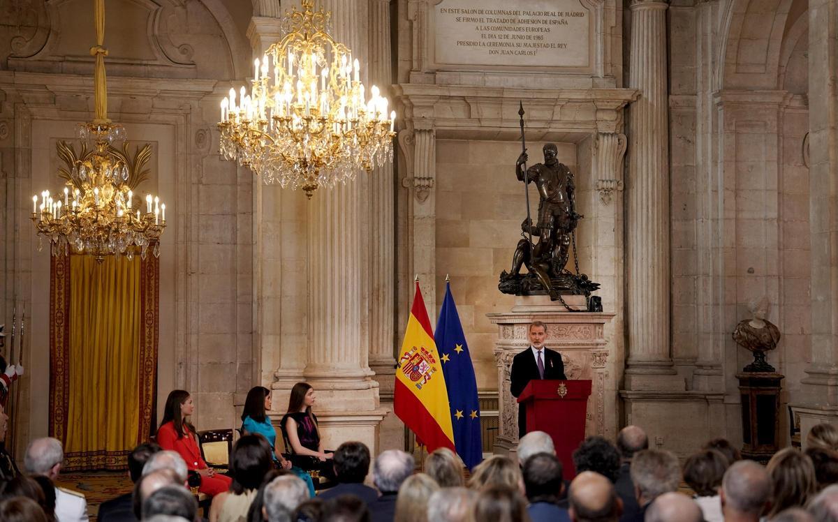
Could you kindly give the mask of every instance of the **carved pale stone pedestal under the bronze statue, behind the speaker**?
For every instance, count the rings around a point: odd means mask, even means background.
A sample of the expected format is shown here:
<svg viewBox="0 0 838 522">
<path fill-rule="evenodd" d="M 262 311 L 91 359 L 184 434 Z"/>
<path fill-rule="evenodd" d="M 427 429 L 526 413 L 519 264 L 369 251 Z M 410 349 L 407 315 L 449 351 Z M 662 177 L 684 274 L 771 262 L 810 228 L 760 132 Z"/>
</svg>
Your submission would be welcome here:
<svg viewBox="0 0 838 522">
<path fill-rule="evenodd" d="M 572 302 L 567 301 L 572 305 Z M 498 325 L 494 358 L 498 364 L 499 433 L 494 452 L 508 454 L 518 447 L 518 403 L 510 393 L 510 369 L 515 354 L 530 346 L 527 329 L 533 321 L 547 326 L 546 347 L 561 354 L 568 379 L 590 379 L 586 435 L 613 438 L 617 433 L 616 380 L 613 358 L 603 331 L 613 313 L 566 312 L 561 304 L 538 297 L 518 297 L 510 313 L 489 313 Z"/>
</svg>

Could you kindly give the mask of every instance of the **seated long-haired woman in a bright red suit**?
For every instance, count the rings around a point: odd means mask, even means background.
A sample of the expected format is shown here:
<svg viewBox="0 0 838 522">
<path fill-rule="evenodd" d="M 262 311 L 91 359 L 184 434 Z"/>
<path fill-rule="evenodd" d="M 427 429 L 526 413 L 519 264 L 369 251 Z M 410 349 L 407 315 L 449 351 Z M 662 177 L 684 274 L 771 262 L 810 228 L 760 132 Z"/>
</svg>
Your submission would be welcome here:
<svg viewBox="0 0 838 522">
<path fill-rule="evenodd" d="M 230 488 L 232 479 L 215 473 L 201 457 L 195 428 L 189 422 L 194 411 L 192 397 L 188 391 L 172 390 L 166 399 L 163 421 L 157 433 L 157 442 L 165 450 L 178 452 L 186 462 L 186 467 L 197 471 L 201 477 L 198 491 L 208 495 L 224 493 Z"/>
</svg>

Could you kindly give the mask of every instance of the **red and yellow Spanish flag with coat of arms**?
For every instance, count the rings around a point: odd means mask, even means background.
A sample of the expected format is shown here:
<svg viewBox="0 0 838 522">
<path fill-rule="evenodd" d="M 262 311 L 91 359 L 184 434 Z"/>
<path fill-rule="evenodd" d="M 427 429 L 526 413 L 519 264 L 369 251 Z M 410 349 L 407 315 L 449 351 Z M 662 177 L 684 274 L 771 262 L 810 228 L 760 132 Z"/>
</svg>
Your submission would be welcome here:
<svg viewBox="0 0 838 522">
<path fill-rule="evenodd" d="M 399 353 L 393 411 L 428 452 L 437 447 L 454 449 L 445 376 L 418 282 Z"/>
</svg>

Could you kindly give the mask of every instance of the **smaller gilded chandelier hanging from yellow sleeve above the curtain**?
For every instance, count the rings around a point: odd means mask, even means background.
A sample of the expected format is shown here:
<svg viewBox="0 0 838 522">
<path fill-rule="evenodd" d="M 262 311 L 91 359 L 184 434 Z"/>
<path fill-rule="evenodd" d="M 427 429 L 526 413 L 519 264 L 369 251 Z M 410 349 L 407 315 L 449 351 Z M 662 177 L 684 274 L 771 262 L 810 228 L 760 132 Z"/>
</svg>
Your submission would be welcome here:
<svg viewBox="0 0 838 522">
<path fill-rule="evenodd" d="M 39 241 L 44 237 L 49 240 L 53 256 L 72 252 L 96 256 L 101 262 L 105 256 L 124 254 L 132 259 L 139 253 L 145 259 L 149 248 L 159 256 L 166 205 L 153 194 L 146 195 L 143 205 L 141 196 L 134 193 L 148 178 L 145 167 L 151 147 L 146 144 L 132 155 L 125 142 L 125 129 L 107 117 L 107 49 L 102 47 L 105 1 L 95 0 L 95 5 L 96 46 L 91 54 L 96 57 L 96 117 L 78 126 L 79 152 L 72 144 L 58 143 L 58 155 L 64 163 L 58 174 L 65 179 L 65 187 L 57 194 L 44 190 L 40 197 L 32 197 L 32 221 Z M 114 142 L 122 142 L 122 149 L 114 147 Z"/>
</svg>

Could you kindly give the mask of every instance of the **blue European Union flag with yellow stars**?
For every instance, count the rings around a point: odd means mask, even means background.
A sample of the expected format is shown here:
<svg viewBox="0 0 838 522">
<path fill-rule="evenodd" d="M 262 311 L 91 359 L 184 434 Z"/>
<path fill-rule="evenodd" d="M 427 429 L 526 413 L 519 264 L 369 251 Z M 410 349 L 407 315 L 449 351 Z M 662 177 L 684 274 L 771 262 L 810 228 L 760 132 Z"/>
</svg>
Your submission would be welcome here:
<svg viewBox="0 0 838 522">
<path fill-rule="evenodd" d="M 483 442 L 480 439 L 480 406 L 477 401 L 477 380 L 468 354 L 468 344 L 463 335 L 463 325 L 457 305 L 451 295 L 451 284 L 446 283 L 445 301 L 439 311 L 437 332 L 442 375 L 448 389 L 451 405 L 451 423 L 454 430 L 454 447 L 463 463 L 472 469 L 483 460 Z"/>
</svg>

